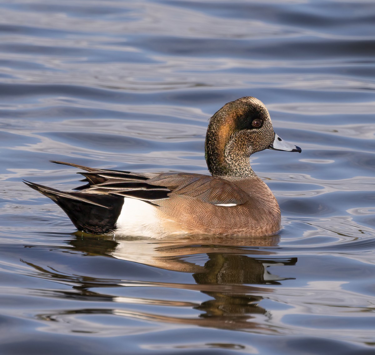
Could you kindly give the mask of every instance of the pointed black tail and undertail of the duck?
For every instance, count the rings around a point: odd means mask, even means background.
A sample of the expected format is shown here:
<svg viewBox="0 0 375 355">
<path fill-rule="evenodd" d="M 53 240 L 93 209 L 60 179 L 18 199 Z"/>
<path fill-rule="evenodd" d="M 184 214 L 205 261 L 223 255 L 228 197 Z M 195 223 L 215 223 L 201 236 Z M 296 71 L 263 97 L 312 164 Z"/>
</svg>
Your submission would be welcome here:
<svg viewBox="0 0 375 355">
<path fill-rule="evenodd" d="M 24 181 L 27 186 L 52 199 L 80 231 L 103 234 L 116 228 L 124 198 L 111 194 L 63 192 Z"/>
</svg>

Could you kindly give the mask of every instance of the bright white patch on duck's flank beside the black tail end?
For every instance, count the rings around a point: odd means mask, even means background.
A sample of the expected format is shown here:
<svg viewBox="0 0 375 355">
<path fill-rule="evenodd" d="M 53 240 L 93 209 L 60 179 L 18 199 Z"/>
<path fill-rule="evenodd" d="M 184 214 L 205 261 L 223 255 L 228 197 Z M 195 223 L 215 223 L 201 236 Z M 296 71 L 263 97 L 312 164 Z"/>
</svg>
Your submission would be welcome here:
<svg viewBox="0 0 375 355">
<path fill-rule="evenodd" d="M 162 226 L 153 205 L 135 198 L 124 198 L 115 233 L 157 238 L 160 232 L 163 232 Z"/>
</svg>

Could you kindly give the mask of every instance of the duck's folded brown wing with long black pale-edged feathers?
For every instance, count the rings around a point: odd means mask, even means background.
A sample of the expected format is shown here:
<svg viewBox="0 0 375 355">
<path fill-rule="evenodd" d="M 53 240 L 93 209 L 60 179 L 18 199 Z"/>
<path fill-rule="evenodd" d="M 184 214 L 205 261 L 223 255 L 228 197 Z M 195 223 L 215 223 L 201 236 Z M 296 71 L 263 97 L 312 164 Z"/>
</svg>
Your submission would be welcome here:
<svg viewBox="0 0 375 355">
<path fill-rule="evenodd" d="M 131 173 L 128 171 L 93 169 L 72 163 L 55 162 L 81 168 L 87 185 L 77 190 L 88 193 L 105 193 L 144 201 L 156 201 L 172 196 L 189 196 L 212 205 L 231 207 L 249 199 L 234 182 L 210 175 L 167 172 Z M 157 203 L 157 202 L 155 202 Z"/>
</svg>

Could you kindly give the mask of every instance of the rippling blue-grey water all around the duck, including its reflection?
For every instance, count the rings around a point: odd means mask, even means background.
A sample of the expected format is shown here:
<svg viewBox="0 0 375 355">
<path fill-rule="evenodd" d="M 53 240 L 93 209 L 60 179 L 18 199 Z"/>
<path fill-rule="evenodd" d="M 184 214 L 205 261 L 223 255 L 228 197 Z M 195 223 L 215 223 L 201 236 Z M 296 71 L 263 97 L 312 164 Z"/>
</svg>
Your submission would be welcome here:
<svg viewBox="0 0 375 355">
<path fill-rule="evenodd" d="M 374 23 L 372 0 L 1 2 L 1 354 L 374 354 Z M 74 234 L 21 183 L 207 172 L 242 96 L 303 150 L 251 157 L 279 235 Z"/>
</svg>

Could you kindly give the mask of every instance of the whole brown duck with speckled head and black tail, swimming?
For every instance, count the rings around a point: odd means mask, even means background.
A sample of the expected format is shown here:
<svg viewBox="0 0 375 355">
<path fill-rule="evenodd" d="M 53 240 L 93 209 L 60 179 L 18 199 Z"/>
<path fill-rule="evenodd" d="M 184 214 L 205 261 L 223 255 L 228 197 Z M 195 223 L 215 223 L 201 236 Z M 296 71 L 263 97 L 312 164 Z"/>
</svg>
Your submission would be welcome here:
<svg viewBox="0 0 375 355">
<path fill-rule="evenodd" d="M 249 159 L 265 149 L 301 153 L 276 135 L 264 103 L 246 96 L 210 118 L 205 138 L 210 175 L 138 173 L 51 160 L 81 169 L 86 184 L 64 192 L 24 183 L 52 199 L 78 231 L 88 234 L 266 237 L 281 229 L 280 207 Z"/>
</svg>

